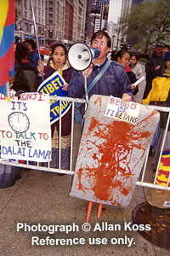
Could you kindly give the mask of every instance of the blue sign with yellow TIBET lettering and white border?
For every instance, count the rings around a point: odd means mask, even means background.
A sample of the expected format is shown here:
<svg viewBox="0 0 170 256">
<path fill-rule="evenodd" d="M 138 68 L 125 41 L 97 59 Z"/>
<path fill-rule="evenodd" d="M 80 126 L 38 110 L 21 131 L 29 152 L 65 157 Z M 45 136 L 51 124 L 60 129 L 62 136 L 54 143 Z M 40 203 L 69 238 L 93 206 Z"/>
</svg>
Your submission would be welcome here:
<svg viewBox="0 0 170 256">
<path fill-rule="evenodd" d="M 42 92 L 50 96 L 67 96 L 66 91 L 62 90 L 62 86 L 66 84 L 58 72 L 53 73 L 48 79 L 42 82 L 37 92 Z M 63 116 L 71 108 L 70 102 L 61 102 L 61 116 Z M 54 124 L 59 119 L 59 101 L 50 100 L 50 123 Z"/>
</svg>

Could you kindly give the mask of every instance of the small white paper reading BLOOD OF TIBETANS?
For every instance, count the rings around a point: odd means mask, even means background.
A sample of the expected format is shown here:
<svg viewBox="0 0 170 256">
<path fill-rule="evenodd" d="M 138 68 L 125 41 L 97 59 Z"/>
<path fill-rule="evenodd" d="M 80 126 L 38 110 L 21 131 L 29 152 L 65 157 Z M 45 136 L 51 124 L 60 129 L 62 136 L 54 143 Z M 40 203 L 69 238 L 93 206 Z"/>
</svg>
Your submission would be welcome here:
<svg viewBox="0 0 170 256">
<path fill-rule="evenodd" d="M 136 102 L 122 102 L 122 99 L 110 96 L 105 116 L 136 125 L 140 105 Z"/>
</svg>

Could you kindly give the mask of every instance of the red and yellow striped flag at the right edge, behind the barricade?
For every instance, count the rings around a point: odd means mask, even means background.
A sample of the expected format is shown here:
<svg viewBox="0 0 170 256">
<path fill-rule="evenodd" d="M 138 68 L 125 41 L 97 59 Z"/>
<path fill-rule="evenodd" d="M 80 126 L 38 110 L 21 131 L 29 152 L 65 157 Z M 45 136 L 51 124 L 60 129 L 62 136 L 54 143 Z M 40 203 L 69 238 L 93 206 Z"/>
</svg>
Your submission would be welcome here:
<svg viewBox="0 0 170 256">
<path fill-rule="evenodd" d="M 170 174 L 170 149 L 163 150 L 161 155 L 161 162 L 156 178 L 156 183 L 162 186 L 167 185 L 167 180 Z M 170 183 L 168 184 L 170 187 Z"/>
</svg>

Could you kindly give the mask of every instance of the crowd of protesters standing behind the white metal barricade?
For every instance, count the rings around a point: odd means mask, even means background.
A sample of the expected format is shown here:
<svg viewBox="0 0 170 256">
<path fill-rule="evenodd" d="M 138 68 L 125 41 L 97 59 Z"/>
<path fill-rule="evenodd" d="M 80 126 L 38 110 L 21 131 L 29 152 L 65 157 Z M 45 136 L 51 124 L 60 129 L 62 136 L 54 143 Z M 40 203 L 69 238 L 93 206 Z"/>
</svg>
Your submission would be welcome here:
<svg viewBox="0 0 170 256">
<path fill-rule="evenodd" d="M 65 79 L 63 90 L 66 90 L 68 96 L 82 98 L 84 91 L 84 75 L 88 77 L 88 86 L 92 83 L 94 78 L 100 73 L 101 69 L 105 67 L 109 61 L 108 53 L 111 49 L 111 38 L 109 35 L 100 30 L 95 32 L 91 38 L 91 47 L 99 49 L 99 56 L 88 67 L 86 71 L 77 71 L 70 67 L 67 61 L 67 49 L 64 44 L 53 42 L 49 45 L 49 60 L 48 65 L 42 63 L 36 50 L 36 43 L 32 39 L 28 39 L 23 43 L 18 43 L 15 48 L 15 75 L 11 79 L 11 89 L 20 93 L 35 92 L 37 86 L 42 83 L 42 73 L 44 79 L 47 79 L 52 73 L 58 71 Z M 159 102 L 159 104 L 169 106 L 169 85 L 167 84 L 167 95 L 163 99 L 154 98 L 153 82 L 157 82 L 157 77 L 170 77 L 170 50 L 168 45 L 156 44 L 153 53 L 150 55 L 145 65 L 146 72 L 146 87 L 144 90 L 144 99 L 150 102 Z M 134 83 L 142 76 L 142 69 L 139 65 L 139 56 L 131 54 L 127 49 L 119 51 L 113 50 L 111 52 L 111 63 L 106 68 L 105 73 L 94 84 L 93 89 L 88 93 L 90 98 L 94 94 L 103 96 L 116 96 L 122 98 L 123 101 L 133 101 L 133 96 L 139 92 L 138 85 Z M 162 84 L 159 86 L 164 86 Z M 161 103 L 160 103 L 161 102 Z M 163 102 L 163 103 L 162 103 Z M 139 102 L 140 103 L 140 102 Z M 81 108 L 82 117 L 84 108 Z M 62 117 L 61 137 L 63 138 L 62 154 L 64 163 L 62 169 L 68 170 L 70 163 L 70 134 L 71 134 L 71 111 Z M 162 125 L 160 126 L 161 128 Z M 59 122 L 51 125 L 52 132 L 52 161 L 51 166 L 59 167 Z M 66 145 L 65 145 L 66 139 Z M 158 143 L 159 137 L 156 138 Z M 170 146 L 170 145 L 169 145 Z M 155 148 L 156 150 L 156 148 Z M 61 157 L 62 157 L 61 154 Z M 62 160 L 61 160 L 62 163 Z M 9 179 L 9 182 L 8 182 Z M 3 176 L 0 171 L 0 188 L 11 186 L 14 183 L 14 178 Z"/>
</svg>

